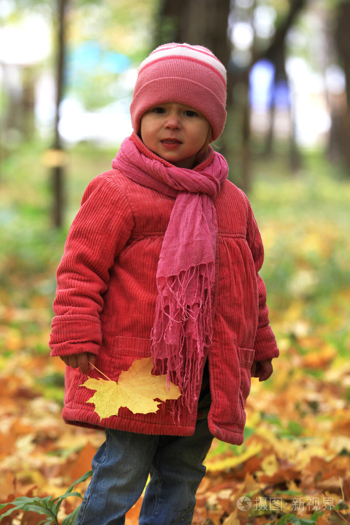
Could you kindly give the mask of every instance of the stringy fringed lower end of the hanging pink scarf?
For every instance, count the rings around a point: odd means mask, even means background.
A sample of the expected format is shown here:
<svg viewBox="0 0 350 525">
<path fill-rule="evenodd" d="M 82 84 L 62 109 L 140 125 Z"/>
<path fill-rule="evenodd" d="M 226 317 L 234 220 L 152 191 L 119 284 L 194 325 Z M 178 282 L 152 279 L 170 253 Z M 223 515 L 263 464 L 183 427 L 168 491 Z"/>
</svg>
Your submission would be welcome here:
<svg viewBox="0 0 350 525">
<path fill-rule="evenodd" d="M 196 399 L 205 348 L 213 335 L 211 289 L 215 264 L 201 264 L 179 275 L 157 277 L 156 317 L 151 333 L 153 373 L 166 374 L 179 386 L 181 401 L 189 407 Z M 191 304 L 188 304 L 188 298 Z"/>
</svg>

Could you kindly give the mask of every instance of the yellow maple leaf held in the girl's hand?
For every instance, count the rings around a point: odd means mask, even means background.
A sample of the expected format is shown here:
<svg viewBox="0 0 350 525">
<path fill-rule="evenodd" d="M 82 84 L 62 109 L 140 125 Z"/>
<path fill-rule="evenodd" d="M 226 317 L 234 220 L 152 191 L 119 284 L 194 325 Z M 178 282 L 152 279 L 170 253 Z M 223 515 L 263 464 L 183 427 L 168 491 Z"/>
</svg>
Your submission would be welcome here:
<svg viewBox="0 0 350 525">
<path fill-rule="evenodd" d="M 152 358 L 136 359 L 129 370 L 122 372 L 116 383 L 110 379 L 89 379 L 79 386 L 96 390 L 86 403 L 94 403 L 95 412 L 101 419 L 118 416 L 119 408 L 125 406 L 134 414 L 157 412 L 162 402 L 181 396 L 178 386 L 166 383 L 166 375 L 152 375 Z M 107 377 L 107 376 L 106 376 Z"/>
</svg>

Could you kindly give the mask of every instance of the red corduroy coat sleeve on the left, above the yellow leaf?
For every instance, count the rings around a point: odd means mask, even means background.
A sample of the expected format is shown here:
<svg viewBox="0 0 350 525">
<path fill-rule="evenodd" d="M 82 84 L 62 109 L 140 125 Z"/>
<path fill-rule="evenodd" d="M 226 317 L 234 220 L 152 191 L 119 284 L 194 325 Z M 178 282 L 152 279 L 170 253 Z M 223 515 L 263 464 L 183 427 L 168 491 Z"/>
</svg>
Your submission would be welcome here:
<svg viewBox="0 0 350 525">
<path fill-rule="evenodd" d="M 109 269 L 133 228 L 129 203 L 115 175 L 94 178 L 69 230 L 57 270 L 51 355 L 97 354 L 102 341 L 100 313 Z"/>
</svg>

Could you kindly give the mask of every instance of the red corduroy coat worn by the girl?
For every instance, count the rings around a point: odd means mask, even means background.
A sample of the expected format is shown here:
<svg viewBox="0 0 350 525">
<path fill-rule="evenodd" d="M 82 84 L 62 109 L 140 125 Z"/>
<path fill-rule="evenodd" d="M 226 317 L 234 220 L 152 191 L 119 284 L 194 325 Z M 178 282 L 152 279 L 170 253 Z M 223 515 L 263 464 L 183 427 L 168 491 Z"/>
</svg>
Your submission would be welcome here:
<svg viewBox="0 0 350 525">
<path fill-rule="evenodd" d="M 97 354 L 96 366 L 118 381 L 135 359 L 151 355 L 150 333 L 157 298 L 156 269 L 175 199 L 141 186 L 118 170 L 88 185 L 70 228 L 57 270 L 50 347 L 52 356 Z M 278 356 L 269 326 L 266 287 L 258 272 L 263 246 L 245 194 L 225 181 L 215 199 L 218 264 L 213 343 L 208 350 L 210 432 L 241 444 L 253 360 Z M 201 368 L 204 369 L 204 362 Z M 90 374 L 99 377 L 98 372 Z M 173 403 L 157 413 L 118 416 L 100 421 L 93 392 L 80 386 L 87 376 L 67 366 L 63 418 L 86 427 L 108 427 L 145 434 L 188 436 L 194 433 L 197 401 L 181 407 L 174 422 Z M 201 378 L 197 381 L 199 394 Z"/>
</svg>

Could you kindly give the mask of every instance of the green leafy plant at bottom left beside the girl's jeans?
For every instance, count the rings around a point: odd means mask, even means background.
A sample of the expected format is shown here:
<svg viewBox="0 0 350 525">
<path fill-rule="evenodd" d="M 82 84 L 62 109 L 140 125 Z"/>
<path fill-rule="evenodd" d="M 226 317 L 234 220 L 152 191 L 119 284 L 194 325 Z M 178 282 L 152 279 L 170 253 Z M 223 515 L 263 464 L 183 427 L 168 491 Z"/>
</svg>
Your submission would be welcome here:
<svg viewBox="0 0 350 525">
<path fill-rule="evenodd" d="M 23 510 L 37 512 L 38 514 L 45 514 L 45 516 L 47 517 L 43 521 L 40 521 L 40 525 L 51 525 L 52 523 L 54 525 L 59 525 L 57 515 L 62 501 L 66 498 L 69 498 L 70 496 L 77 496 L 78 498 L 82 499 L 80 492 L 73 492 L 73 487 L 78 483 L 86 481 L 91 475 L 92 470 L 89 470 L 83 476 L 77 479 L 77 481 L 75 481 L 69 487 L 69 489 L 58 498 L 54 498 L 52 496 L 47 496 L 46 498 L 28 498 L 26 496 L 20 496 L 14 501 L 2 503 L 0 505 L 0 511 L 8 505 L 14 505 L 14 507 L 4 512 L 4 514 L 0 514 L 0 521 L 2 521 L 2 519 L 5 518 L 5 516 L 9 516 L 10 514 L 12 514 L 12 512 L 15 512 L 16 510 Z M 79 507 L 80 505 L 75 510 L 73 510 L 68 516 L 66 516 L 66 518 L 63 519 L 62 525 L 73 525 L 76 522 Z"/>
</svg>

